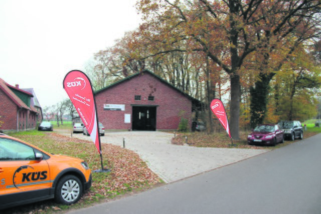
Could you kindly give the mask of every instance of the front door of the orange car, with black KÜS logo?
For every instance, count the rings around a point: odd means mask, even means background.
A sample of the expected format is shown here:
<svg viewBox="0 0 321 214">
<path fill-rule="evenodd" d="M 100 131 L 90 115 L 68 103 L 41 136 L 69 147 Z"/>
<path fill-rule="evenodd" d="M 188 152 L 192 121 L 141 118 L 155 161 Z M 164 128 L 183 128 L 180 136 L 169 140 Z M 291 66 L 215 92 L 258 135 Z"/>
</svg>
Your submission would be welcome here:
<svg viewBox="0 0 321 214">
<path fill-rule="evenodd" d="M 22 142 L 0 138 L 0 207 L 49 195 L 49 166 L 37 152 Z"/>
</svg>

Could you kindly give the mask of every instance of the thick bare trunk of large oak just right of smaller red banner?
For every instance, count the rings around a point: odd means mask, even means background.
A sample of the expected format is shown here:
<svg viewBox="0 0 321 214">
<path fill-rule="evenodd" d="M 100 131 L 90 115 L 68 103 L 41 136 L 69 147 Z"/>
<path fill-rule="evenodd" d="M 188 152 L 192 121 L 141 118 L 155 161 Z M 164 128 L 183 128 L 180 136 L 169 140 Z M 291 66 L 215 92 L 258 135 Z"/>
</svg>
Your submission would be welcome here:
<svg viewBox="0 0 321 214">
<path fill-rule="evenodd" d="M 231 130 L 231 137 L 234 140 L 239 140 L 239 118 L 240 118 L 240 76 L 231 75 L 231 103 L 230 103 L 230 120 L 229 126 Z"/>
</svg>

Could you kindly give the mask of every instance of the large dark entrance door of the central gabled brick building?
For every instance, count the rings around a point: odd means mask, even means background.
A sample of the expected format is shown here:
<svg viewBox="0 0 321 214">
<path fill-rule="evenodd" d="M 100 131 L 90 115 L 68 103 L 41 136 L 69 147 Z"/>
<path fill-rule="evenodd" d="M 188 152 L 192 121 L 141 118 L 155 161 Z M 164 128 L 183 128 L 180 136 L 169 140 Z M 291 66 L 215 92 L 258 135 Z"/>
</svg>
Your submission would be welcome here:
<svg viewBox="0 0 321 214">
<path fill-rule="evenodd" d="M 132 107 L 132 130 L 156 130 L 156 106 Z"/>
</svg>

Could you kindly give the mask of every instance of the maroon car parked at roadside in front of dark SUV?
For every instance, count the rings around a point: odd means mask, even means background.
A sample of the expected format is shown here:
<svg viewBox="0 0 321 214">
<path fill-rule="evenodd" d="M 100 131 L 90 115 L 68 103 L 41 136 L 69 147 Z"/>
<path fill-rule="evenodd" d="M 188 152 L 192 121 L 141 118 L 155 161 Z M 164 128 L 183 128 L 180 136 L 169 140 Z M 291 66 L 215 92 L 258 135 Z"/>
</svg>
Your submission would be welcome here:
<svg viewBox="0 0 321 214">
<path fill-rule="evenodd" d="M 284 132 L 279 125 L 262 124 L 256 126 L 251 134 L 247 136 L 247 143 L 264 144 L 275 146 L 276 143 L 284 142 Z"/>
</svg>

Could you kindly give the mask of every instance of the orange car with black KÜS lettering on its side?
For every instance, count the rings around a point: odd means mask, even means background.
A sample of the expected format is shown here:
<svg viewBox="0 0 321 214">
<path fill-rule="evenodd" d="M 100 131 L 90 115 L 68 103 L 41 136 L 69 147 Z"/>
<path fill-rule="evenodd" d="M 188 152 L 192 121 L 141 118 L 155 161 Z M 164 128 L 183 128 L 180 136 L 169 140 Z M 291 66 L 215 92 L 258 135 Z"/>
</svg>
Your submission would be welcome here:
<svg viewBox="0 0 321 214">
<path fill-rule="evenodd" d="M 72 204 L 90 186 L 85 161 L 0 133 L 0 209 L 50 198 Z"/>
</svg>

